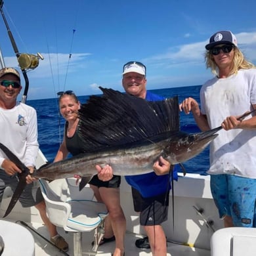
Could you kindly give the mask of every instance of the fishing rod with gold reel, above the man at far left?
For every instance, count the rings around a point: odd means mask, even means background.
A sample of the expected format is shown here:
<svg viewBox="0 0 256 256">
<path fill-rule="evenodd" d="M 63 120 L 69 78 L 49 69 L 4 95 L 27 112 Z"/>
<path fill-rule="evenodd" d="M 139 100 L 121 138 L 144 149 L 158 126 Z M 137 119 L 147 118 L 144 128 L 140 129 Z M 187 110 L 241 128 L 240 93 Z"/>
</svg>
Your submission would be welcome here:
<svg viewBox="0 0 256 256">
<path fill-rule="evenodd" d="M 24 88 L 24 93 L 23 93 L 21 102 L 26 103 L 26 98 L 28 95 L 28 88 L 30 85 L 26 70 L 35 69 L 39 65 L 39 59 L 43 60 L 43 56 L 40 53 L 37 53 L 37 55 L 30 54 L 30 53 L 19 53 L 18 47 L 15 43 L 15 40 L 14 40 L 14 37 L 10 30 L 9 24 L 8 24 L 7 19 L 5 18 L 5 14 L 3 12 L 3 0 L 0 0 L 0 12 L 3 17 L 3 21 L 5 22 L 5 26 L 7 28 L 7 33 L 9 35 L 9 39 L 11 41 L 14 53 L 16 54 L 16 58 L 18 60 L 19 66 L 20 66 L 20 70 L 22 71 L 22 75 L 25 80 L 25 88 Z"/>
</svg>

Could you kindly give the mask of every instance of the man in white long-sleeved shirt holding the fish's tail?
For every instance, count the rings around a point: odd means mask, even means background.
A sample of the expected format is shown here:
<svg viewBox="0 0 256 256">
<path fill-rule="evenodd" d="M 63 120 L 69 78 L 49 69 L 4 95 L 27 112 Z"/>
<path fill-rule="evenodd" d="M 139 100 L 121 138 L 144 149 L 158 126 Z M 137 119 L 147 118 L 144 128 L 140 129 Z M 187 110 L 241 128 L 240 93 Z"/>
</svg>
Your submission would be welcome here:
<svg viewBox="0 0 256 256">
<path fill-rule="evenodd" d="M 14 68 L 0 70 L 0 141 L 33 172 L 39 147 L 37 116 L 34 108 L 17 102 L 21 89 L 20 74 L 17 70 Z M 16 189 L 17 173 L 21 173 L 20 169 L 0 150 L 0 202 L 7 186 L 11 186 L 12 191 Z M 34 205 L 39 210 L 51 235 L 51 242 L 63 251 L 68 251 L 68 244 L 58 235 L 56 226 L 47 217 L 38 181 L 26 186 L 19 201 L 23 207 Z"/>
</svg>

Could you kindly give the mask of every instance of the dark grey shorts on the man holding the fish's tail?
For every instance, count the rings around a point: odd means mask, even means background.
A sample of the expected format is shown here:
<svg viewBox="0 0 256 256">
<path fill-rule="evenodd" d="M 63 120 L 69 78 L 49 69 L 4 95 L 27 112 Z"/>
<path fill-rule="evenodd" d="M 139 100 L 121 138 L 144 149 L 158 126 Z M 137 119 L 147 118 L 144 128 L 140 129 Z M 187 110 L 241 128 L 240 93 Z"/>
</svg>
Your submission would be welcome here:
<svg viewBox="0 0 256 256">
<path fill-rule="evenodd" d="M 0 169 L 0 202 L 3 199 L 3 193 L 7 186 L 10 186 L 12 192 L 15 191 L 16 186 L 18 185 L 18 177 L 16 175 L 9 176 L 5 173 L 3 169 Z M 43 201 L 43 195 L 39 187 L 39 182 L 34 181 L 26 185 L 26 188 L 20 195 L 18 199 L 22 207 L 32 207 Z"/>
</svg>

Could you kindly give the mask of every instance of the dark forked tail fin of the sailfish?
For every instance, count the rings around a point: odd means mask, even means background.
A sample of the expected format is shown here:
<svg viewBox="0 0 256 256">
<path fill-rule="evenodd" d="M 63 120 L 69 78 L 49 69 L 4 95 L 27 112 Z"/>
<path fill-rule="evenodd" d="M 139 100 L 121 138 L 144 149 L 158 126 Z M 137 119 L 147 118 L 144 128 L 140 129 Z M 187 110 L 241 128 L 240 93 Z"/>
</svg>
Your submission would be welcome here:
<svg viewBox="0 0 256 256">
<path fill-rule="evenodd" d="M 0 149 L 6 154 L 9 160 L 13 161 L 22 171 L 22 173 L 18 173 L 18 179 L 19 179 L 18 185 L 16 187 L 16 190 L 14 191 L 14 194 L 12 195 L 12 199 L 7 207 L 7 211 L 3 216 L 3 217 L 7 217 L 7 215 L 11 213 L 14 205 L 18 201 L 18 198 L 20 198 L 20 195 L 22 194 L 24 188 L 26 188 L 26 184 L 27 184 L 26 176 L 30 173 L 30 170 L 4 144 L 0 143 Z"/>
</svg>

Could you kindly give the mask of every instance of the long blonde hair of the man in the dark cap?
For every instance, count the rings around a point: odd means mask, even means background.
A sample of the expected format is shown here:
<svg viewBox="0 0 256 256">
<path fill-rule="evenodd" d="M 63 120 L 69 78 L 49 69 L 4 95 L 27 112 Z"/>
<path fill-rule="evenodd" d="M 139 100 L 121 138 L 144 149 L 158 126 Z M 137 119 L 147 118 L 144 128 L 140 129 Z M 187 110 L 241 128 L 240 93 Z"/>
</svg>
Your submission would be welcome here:
<svg viewBox="0 0 256 256">
<path fill-rule="evenodd" d="M 256 68 L 251 62 L 247 61 L 244 57 L 244 54 L 238 49 L 238 47 L 234 46 L 234 58 L 232 68 L 230 69 L 229 75 L 237 74 L 238 70 L 244 69 L 249 70 L 249 68 Z M 219 68 L 214 61 L 213 54 L 211 51 L 205 52 L 205 64 L 206 68 L 211 68 L 211 72 L 214 75 L 219 74 Z"/>
</svg>

